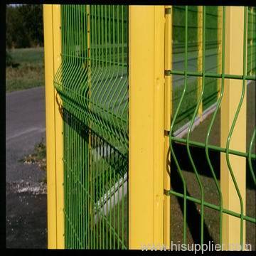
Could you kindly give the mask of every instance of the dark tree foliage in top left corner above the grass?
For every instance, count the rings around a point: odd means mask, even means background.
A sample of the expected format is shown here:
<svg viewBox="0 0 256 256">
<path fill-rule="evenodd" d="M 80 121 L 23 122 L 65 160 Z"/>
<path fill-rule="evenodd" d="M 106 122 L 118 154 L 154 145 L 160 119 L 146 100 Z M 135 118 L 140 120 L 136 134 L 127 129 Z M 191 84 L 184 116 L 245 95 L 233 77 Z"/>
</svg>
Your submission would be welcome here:
<svg viewBox="0 0 256 256">
<path fill-rule="evenodd" d="M 43 6 L 6 6 L 6 48 L 43 46 Z"/>
</svg>

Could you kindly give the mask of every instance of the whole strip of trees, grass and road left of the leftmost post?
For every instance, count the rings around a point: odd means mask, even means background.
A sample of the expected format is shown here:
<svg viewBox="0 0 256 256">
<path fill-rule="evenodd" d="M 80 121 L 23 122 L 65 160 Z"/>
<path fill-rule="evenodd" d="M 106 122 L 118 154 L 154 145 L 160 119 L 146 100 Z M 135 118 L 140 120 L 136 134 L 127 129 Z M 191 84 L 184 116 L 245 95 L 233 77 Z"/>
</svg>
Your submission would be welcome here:
<svg viewBox="0 0 256 256">
<path fill-rule="evenodd" d="M 6 247 L 47 247 L 43 6 L 6 5 Z"/>
</svg>

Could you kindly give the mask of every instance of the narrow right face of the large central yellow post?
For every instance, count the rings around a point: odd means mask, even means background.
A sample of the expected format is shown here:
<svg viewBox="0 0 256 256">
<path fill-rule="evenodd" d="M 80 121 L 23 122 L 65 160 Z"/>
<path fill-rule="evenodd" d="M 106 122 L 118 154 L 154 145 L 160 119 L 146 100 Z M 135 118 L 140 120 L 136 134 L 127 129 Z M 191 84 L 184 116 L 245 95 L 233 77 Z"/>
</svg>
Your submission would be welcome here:
<svg viewBox="0 0 256 256">
<path fill-rule="evenodd" d="M 154 245 L 164 238 L 164 6 L 154 7 Z"/>
</svg>

